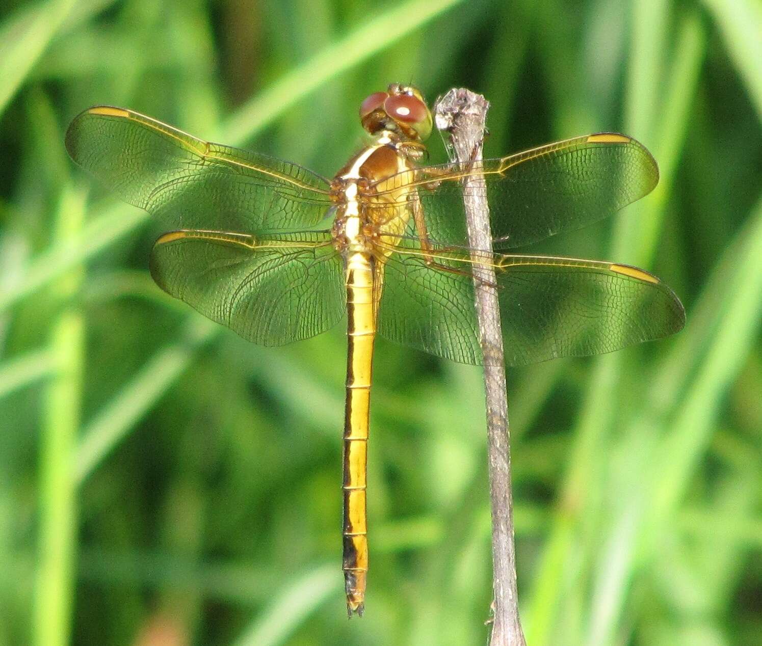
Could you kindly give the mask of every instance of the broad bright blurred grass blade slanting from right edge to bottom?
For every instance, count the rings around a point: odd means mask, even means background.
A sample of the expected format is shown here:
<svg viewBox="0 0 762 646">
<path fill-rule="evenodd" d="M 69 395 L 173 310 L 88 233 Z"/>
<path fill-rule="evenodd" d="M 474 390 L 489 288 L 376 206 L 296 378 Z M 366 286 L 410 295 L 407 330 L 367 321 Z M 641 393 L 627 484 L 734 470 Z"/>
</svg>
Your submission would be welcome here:
<svg viewBox="0 0 762 646">
<path fill-rule="evenodd" d="M 712 312 L 717 320 L 707 326 L 708 332 L 693 325 L 701 325 L 699 321 L 689 321 L 687 335 L 705 337 L 707 350 L 687 393 L 671 401 L 671 412 L 676 417 L 674 423 L 664 424 L 663 414 L 659 414 L 662 394 L 654 389 L 652 397 L 643 402 L 642 417 L 625 433 L 625 437 L 647 437 L 649 433 L 658 432 L 664 440 L 646 446 L 642 464 L 631 473 L 637 484 L 632 482 L 630 486 L 648 491 L 652 497 L 632 496 L 625 501 L 618 512 L 620 521 L 627 523 L 621 540 L 616 524 L 614 529 L 607 530 L 612 547 L 626 542 L 627 548 L 621 554 L 612 552 L 598 558 L 599 577 L 591 610 L 591 633 L 586 643 L 607 644 L 616 634 L 626 600 L 624 593 L 636 561 L 655 558 L 652 542 L 668 526 L 667 518 L 677 513 L 696 466 L 708 449 L 723 396 L 756 341 L 762 321 L 762 200 L 750 224 L 744 229 L 748 235 L 744 236 L 741 249 L 733 257 L 732 273 L 722 280 L 725 288 L 722 298 L 713 304 Z M 715 272 L 725 273 L 722 263 Z M 662 365 L 670 369 L 669 357 Z M 648 440 L 645 442 L 648 444 Z M 648 473 L 654 478 L 653 489 L 645 486 L 644 474 Z"/>
</svg>

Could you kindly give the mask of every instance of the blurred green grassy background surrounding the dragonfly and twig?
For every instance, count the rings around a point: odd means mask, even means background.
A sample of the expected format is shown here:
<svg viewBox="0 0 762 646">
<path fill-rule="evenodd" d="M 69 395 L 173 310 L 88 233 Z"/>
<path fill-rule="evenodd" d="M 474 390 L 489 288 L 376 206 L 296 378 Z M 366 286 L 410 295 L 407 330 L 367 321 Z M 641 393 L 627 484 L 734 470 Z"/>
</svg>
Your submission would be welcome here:
<svg viewBox="0 0 762 646">
<path fill-rule="evenodd" d="M 347 622 L 343 329 L 264 349 L 171 301 L 147 271 L 162 225 L 62 146 L 114 104 L 331 175 L 394 81 L 484 93 L 487 156 L 621 130 L 661 167 L 641 203 L 541 248 L 655 271 L 688 323 L 508 372 L 530 646 L 760 643 L 757 0 L 6 0 L 0 644 L 485 643 L 479 369 L 378 342 L 367 612 Z"/>
</svg>

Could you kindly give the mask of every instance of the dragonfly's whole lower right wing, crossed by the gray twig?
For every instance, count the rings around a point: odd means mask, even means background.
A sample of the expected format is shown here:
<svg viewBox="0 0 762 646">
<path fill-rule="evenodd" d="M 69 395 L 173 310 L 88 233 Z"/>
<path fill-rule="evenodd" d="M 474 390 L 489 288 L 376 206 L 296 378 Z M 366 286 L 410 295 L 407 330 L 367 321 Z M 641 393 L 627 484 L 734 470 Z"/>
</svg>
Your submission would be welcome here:
<svg viewBox="0 0 762 646">
<path fill-rule="evenodd" d="M 419 350 L 482 363 L 470 264 L 407 254 L 385 266 L 379 334 Z M 584 357 L 668 336 L 685 312 L 677 296 L 636 267 L 564 257 L 496 255 L 509 366 Z"/>
</svg>

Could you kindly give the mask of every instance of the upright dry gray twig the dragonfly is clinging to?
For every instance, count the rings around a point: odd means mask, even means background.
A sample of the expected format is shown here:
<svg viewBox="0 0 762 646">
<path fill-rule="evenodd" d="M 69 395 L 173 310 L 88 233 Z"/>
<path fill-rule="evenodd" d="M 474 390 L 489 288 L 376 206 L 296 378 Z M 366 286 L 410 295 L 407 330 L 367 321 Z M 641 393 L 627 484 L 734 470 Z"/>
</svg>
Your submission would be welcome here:
<svg viewBox="0 0 762 646">
<path fill-rule="evenodd" d="M 453 161 L 469 166 L 482 160 L 482 143 L 488 101 L 464 88 L 450 90 L 437 101 L 437 128 L 450 133 Z M 491 252 L 489 206 L 484 178 L 474 174 L 463 179 L 463 203 L 469 245 Z M 492 509 L 492 564 L 495 592 L 491 646 L 525 646 L 519 621 L 514 548 L 513 497 L 511 495 L 511 449 L 508 430 L 508 399 L 505 360 L 500 327 L 500 305 L 493 267 L 474 257 L 474 291 L 479 320 L 479 343 L 484 357 L 487 405 L 487 451 Z M 482 255 L 483 260 L 483 255 Z"/>
</svg>

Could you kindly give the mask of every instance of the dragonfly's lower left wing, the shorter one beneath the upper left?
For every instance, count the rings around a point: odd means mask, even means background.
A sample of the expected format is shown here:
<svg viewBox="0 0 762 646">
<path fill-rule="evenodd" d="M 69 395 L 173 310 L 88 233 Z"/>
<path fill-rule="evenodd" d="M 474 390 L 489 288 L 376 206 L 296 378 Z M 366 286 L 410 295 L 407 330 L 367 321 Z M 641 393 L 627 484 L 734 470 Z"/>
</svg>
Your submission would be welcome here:
<svg viewBox="0 0 762 646">
<path fill-rule="evenodd" d="M 151 275 L 248 341 L 283 345 L 328 330 L 346 311 L 341 258 L 327 234 L 319 237 L 165 233 L 152 250 Z"/>
</svg>

